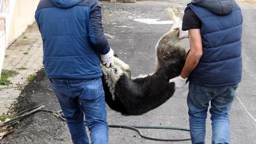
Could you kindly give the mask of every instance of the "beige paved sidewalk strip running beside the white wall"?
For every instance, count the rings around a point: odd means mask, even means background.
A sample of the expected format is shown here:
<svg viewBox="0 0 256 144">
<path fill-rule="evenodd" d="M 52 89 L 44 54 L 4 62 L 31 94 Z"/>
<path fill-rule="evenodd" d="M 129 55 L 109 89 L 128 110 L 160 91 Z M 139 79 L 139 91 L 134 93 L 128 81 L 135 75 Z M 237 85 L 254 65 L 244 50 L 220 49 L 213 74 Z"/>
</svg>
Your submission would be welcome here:
<svg viewBox="0 0 256 144">
<path fill-rule="evenodd" d="M 6 113 L 20 95 L 20 90 L 28 83 L 27 77 L 42 69 L 42 43 L 40 32 L 34 23 L 6 49 L 3 69 L 14 70 L 19 74 L 9 78 L 12 83 L 9 86 L 0 85 L 0 115 Z M 18 70 L 20 67 L 27 69 Z"/>
</svg>

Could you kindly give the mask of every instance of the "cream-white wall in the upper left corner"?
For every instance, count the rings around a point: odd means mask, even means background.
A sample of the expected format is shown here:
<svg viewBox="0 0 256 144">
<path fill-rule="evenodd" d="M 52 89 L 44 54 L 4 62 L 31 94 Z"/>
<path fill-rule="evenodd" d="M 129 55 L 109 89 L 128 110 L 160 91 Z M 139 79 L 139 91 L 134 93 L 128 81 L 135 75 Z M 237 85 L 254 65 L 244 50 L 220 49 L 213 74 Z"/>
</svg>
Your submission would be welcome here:
<svg viewBox="0 0 256 144">
<path fill-rule="evenodd" d="M 31 25 L 40 0 L 3 0 L 0 13 L 0 75 L 5 48 Z M 2 23 L 4 21 L 4 26 Z M 5 39 L 5 41 L 3 41 Z"/>
</svg>

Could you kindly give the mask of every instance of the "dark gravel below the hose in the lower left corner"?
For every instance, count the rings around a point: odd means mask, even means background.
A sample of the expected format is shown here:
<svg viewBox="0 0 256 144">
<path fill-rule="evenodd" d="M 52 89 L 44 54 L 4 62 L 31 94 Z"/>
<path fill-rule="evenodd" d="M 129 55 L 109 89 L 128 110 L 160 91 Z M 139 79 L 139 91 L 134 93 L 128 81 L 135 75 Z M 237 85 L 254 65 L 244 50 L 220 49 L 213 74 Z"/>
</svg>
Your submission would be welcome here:
<svg viewBox="0 0 256 144">
<path fill-rule="evenodd" d="M 17 130 L 0 144 L 70 144 L 65 123 L 49 113 L 37 113 L 23 120 Z"/>
</svg>

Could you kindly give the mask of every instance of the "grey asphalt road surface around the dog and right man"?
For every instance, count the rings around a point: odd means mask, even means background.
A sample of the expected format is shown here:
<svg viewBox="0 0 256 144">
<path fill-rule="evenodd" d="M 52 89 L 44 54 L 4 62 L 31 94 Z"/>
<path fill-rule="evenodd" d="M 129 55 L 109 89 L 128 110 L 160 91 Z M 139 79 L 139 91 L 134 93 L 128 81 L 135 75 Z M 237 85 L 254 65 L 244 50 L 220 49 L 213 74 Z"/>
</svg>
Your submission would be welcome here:
<svg viewBox="0 0 256 144">
<path fill-rule="evenodd" d="M 189 1 L 139 1 L 136 4 L 109 4 L 102 3 L 103 24 L 105 33 L 109 36 L 111 47 L 119 58 L 131 66 L 132 76 L 150 74 L 155 70 L 154 47 L 171 27 L 171 24 L 153 24 L 157 21 L 169 20 L 165 9 L 173 5 L 179 6 L 184 11 Z M 234 100 L 230 111 L 231 144 L 256 144 L 256 7 L 241 5 L 243 24 L 243 79 L 239 85 L 238 97 Z M 181 13 L 183 15 L 183 13 Z M 137 21 L 138 19 L 143 22 Z M 145 20 L 146 19 L 146 20 Z M 151 19 L 151 20 L 150 20 Z M 153 20 L 154 21 L 154 20 Z M 161 23 L 161 22 L 160 22 Z M 164 23 L 164 22 L 162 22 Z M 108 36 L 108 35 L 107 35 Z M 183 40 L 188 47 L 188 40 Z M 234 65 L 235 67 L 235 65 Z M 189 128 L 188 108 L 186 97 L 188 85 L 178 89 L 172 98 L 157 109 L 142 116 L 125 117 L 109 109 L 109 124 L 146 125 L 146 126 L 175 126 Z M 206 142 L 211 143 L 211 120 L 208 113 Z M 150 136 L 160 138 L 184 138 L 187 132 L 169 130 L 144 130 Z M 133 137 L 131 130 L 110 129 L 111 144 L 180 144 L 187 142 L 157 142 Z M 136 135 L 136 134 L 135 134 Z"/>
</svg>

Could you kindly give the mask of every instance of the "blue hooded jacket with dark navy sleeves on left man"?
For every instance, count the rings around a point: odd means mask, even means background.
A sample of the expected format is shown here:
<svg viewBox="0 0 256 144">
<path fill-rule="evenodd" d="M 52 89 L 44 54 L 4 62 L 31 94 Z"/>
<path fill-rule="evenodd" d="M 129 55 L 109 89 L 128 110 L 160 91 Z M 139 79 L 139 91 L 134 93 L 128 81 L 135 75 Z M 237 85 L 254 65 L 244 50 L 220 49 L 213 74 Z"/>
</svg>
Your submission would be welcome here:
<svg viewBox="0 0 256 144">
<path fill-rule="evenodd" d="M 102 76 L 99 54 L 109 52 L 98 0 L 40 0 L 35 19 L 47 78 Z"/>
</svg>

